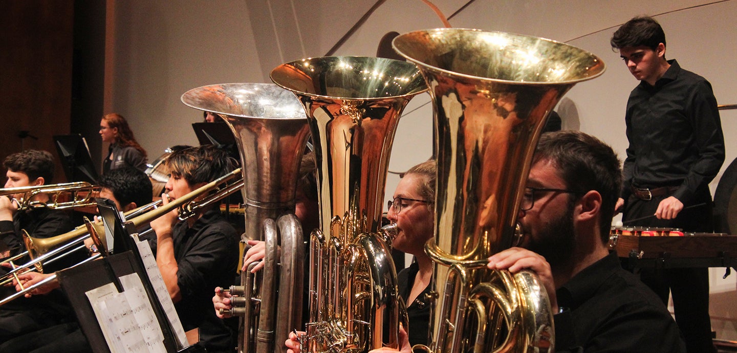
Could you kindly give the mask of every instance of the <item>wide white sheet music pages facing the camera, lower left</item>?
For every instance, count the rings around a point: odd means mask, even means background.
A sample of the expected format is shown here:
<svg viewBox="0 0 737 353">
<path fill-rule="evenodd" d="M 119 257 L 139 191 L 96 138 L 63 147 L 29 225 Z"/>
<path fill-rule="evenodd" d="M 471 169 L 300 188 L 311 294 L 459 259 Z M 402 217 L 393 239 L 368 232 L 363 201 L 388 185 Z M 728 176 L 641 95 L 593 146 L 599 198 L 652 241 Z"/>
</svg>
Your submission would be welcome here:
<svg viewBox="0 0 737 353">
<path fill-rule="evenodd" d="M 112 353 L 166 353 L 164 335 L 136 273 L 121 277 L 118 293 L 112 283 L 85 292 Z"/>
</svg>

